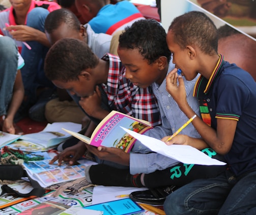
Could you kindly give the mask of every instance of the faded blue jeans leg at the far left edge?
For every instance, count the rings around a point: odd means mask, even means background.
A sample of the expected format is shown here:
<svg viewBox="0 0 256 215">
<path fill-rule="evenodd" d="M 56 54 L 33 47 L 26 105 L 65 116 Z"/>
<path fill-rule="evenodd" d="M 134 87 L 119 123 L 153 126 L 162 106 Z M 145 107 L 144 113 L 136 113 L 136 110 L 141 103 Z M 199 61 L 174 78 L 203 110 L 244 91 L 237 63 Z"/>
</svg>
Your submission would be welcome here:
<svg viewBox="0 0 256 215">
<path fill-rule="evenodd" d="M 0 116 L 6 115 L 12 99 L 18 67 L 18 50 L 15 41 L 0 37 Z"/>
</svg>

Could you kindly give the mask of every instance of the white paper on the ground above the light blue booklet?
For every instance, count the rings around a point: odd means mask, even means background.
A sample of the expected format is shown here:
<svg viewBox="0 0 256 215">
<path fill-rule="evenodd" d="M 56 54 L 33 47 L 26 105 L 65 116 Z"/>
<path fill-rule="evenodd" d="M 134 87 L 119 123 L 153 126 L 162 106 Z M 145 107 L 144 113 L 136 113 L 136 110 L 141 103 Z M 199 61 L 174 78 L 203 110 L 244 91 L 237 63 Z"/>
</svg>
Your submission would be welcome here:
<svg viewBox="0 0 256 215">
<path fill-rule="evenodd" d="M 130 187 L 111 187 L 111 186 L 96 186 L 93 188 L 92 204 L 99 204 L 121 199 L 120 195 L 129 195 L 134 191 L 148 190 L 148 188 L 130 188 Z M 127 197 L 123 197 L 127 198 Z"/>
</svg>

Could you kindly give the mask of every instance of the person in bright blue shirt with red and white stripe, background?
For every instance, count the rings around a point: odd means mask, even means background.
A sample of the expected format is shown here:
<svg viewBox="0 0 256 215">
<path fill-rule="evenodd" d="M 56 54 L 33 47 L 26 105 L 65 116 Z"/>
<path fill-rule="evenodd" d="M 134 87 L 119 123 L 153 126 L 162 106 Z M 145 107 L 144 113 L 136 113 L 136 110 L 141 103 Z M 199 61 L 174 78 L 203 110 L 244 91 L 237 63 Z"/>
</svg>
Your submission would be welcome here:
<svg viewBox="0 0 256 215">
<path fill-rule="evenodd" d="M 112 5 L 110 0 L 75 0 L 75 5 L 96 33 L 112 35 L 136 20 L 145 19 L 129 1 Z"/>
</svg>

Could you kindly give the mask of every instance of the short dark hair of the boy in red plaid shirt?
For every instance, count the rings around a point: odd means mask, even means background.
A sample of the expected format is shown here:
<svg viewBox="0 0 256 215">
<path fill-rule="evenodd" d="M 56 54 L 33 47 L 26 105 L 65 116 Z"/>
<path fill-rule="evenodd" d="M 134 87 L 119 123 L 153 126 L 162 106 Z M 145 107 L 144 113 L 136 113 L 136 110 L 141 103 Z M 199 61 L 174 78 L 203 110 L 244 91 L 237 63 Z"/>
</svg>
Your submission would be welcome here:
<svg viewBox="0 0 256 215">
<path fill-rule="evenodd" d="M 86 42 L 63 38 L 57 41 L 45 57 L 44 72 L 53 81 L 63 82 L 78 80 L 80 73 L 88 68 L 95 68 L 99 58 Z"/>
</svg>

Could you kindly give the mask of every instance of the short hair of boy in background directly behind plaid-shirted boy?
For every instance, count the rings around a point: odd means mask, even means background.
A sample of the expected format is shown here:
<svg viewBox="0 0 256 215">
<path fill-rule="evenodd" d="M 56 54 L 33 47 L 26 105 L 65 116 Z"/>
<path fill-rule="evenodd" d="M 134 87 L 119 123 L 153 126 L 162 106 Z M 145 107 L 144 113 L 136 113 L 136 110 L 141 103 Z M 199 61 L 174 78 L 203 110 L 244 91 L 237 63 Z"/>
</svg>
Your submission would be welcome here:
<svg viewBox="0 0 256 215">
<path fill-rule="evenodd" d="M 62 23 L 66 23 L 70 29 L 80 30 L 80 21 L 76 15 L 68 9 L 61 8 L 48 14 L 44 22 L 44 29 L 47 33 L 52 33 Z"/>
</svg>

